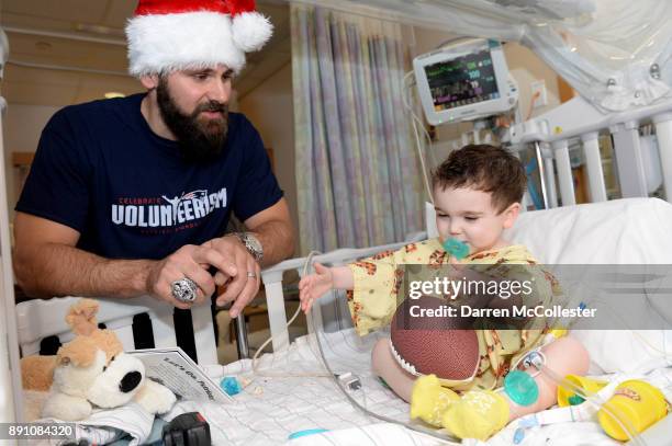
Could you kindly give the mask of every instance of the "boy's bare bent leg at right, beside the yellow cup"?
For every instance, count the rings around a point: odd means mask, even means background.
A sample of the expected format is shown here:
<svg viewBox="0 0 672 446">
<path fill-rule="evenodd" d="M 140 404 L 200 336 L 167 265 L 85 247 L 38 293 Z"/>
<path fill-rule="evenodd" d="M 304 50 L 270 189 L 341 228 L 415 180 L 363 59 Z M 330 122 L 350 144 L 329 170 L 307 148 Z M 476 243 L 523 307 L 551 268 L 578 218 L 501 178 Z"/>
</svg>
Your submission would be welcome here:
<svg viewBox="0 0 672 446">
<path fill-rule="evenodd" d="M 546 356 L 546 367 L 555 373 L 555 375 L 564 378 L 567 375 L 585 375 L 589 369 L 589 354 L 579 341 L 570 336 L 560 338 L 541 348 Z M 527 369 L 529 374 L 536 373 L 535 367 Z M 539 387 L 539 399 L 530 405 L 518 405 L 511 401 L 506 393 L 509 408 L 509 420 L 515 420 L 528 413 L 539 412 L 548 409 L 557 402 L 558 384 L 553 381 L 544 371 L 540 371 L 535 381 Z"/>
</svg>

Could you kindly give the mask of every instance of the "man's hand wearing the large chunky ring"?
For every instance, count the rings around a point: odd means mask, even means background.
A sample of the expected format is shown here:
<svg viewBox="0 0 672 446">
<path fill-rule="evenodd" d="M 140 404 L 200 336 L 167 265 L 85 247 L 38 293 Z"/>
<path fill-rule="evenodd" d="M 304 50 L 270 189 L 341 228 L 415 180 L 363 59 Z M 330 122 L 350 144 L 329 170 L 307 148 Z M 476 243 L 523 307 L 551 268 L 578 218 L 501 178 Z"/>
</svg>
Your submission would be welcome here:
<svg viewBox="0 0 672 446">
<path fill-rule="evenodd" d="M 229 276 L 237 273 L 236 265 L 217 250 L 187 244 L 152 265 L 147 275 L 147 291 L 178 308 L 191 308 L 212 296 L 215 290 L 215 279 L 208 272 L 210 265 L 225 271 Z M 198 286 L 197 300 L 193 302 L 182 302 L 172 297 L 172 283 L 184 277 Z"/>
</svg>

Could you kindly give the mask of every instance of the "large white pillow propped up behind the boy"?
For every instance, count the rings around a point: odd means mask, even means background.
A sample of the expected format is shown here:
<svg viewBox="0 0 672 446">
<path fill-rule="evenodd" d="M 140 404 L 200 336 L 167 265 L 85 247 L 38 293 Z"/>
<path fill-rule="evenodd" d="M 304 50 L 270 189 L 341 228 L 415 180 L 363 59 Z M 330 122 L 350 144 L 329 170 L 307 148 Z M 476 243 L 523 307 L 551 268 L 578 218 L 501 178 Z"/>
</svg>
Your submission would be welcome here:
<svg viewBox="0 0 672 446">
<path fill-rule="evenodd" d="M 547 264 L 670 264 L 671 230 L 670 203 L 626 198 L 523 213 L 505 236 Z M 650 311 L 651 319 L 672 318 L 656 313 L 660 306 L 641 307 L 638 310 Z M 627 316 L 613 318 L 615 330 L 572 331 L 589 351 L 591 374 L 646 374 L 670 364 L 672 331 L 630 330 Z"/>
</svg>

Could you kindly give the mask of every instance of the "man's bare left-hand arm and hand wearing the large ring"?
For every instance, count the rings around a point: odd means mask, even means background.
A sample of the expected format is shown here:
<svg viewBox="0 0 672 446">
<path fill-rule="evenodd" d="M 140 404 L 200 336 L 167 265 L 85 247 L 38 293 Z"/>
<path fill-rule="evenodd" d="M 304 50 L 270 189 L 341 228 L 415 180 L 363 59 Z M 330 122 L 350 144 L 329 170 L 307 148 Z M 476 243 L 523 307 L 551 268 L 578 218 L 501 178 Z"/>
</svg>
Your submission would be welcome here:
<svg viewBox="0 0 672 446">
<path fill-rule="evenodd" d="M 187 245 L 160 261 L 110 260 L 76 248 L 79 232 L 33 215 L 16 213 L 14 272 L 33 297 L 153 295 L 179 308 L 170 284 L 184 276 L 199 285 L 199 299 L 214 291 L 214 281 L 201 264 L 220 265 L 235 275 L 231 262 L 214 250 Z"/>
</svg>

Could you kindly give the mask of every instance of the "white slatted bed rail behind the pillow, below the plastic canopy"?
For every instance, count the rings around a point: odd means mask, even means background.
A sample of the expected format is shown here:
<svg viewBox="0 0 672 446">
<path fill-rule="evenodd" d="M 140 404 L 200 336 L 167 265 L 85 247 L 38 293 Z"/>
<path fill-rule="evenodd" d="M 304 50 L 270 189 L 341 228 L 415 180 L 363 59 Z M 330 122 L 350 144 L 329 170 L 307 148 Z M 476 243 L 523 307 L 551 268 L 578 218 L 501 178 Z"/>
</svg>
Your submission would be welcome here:
<svg viewBox="0 0 672 446">
<path fill-rule="evenodd" d="M 650 135 L 643 135 L 645 127 Z M 544 115 L 512 126 L 508 141 L 515 149 L 535 145 L 544 179 L 545 207 L 551 208 L 558 207 L 559 202 L 563 206 L 576 204 L 570 159 L 570 148 L 575 144 L 581 146 L 586 168 L 589 201 L 608 199 L 605 160 L 598 144 L 601 135 L 612 138 L 620 197 L 649 196 L 652 188 L 658 188 L 651 184 L 656 178 L 662 180 L 665 199 L 672 201 L 672 100 L 603 114 L 576 96 Z"/>
</svg>

